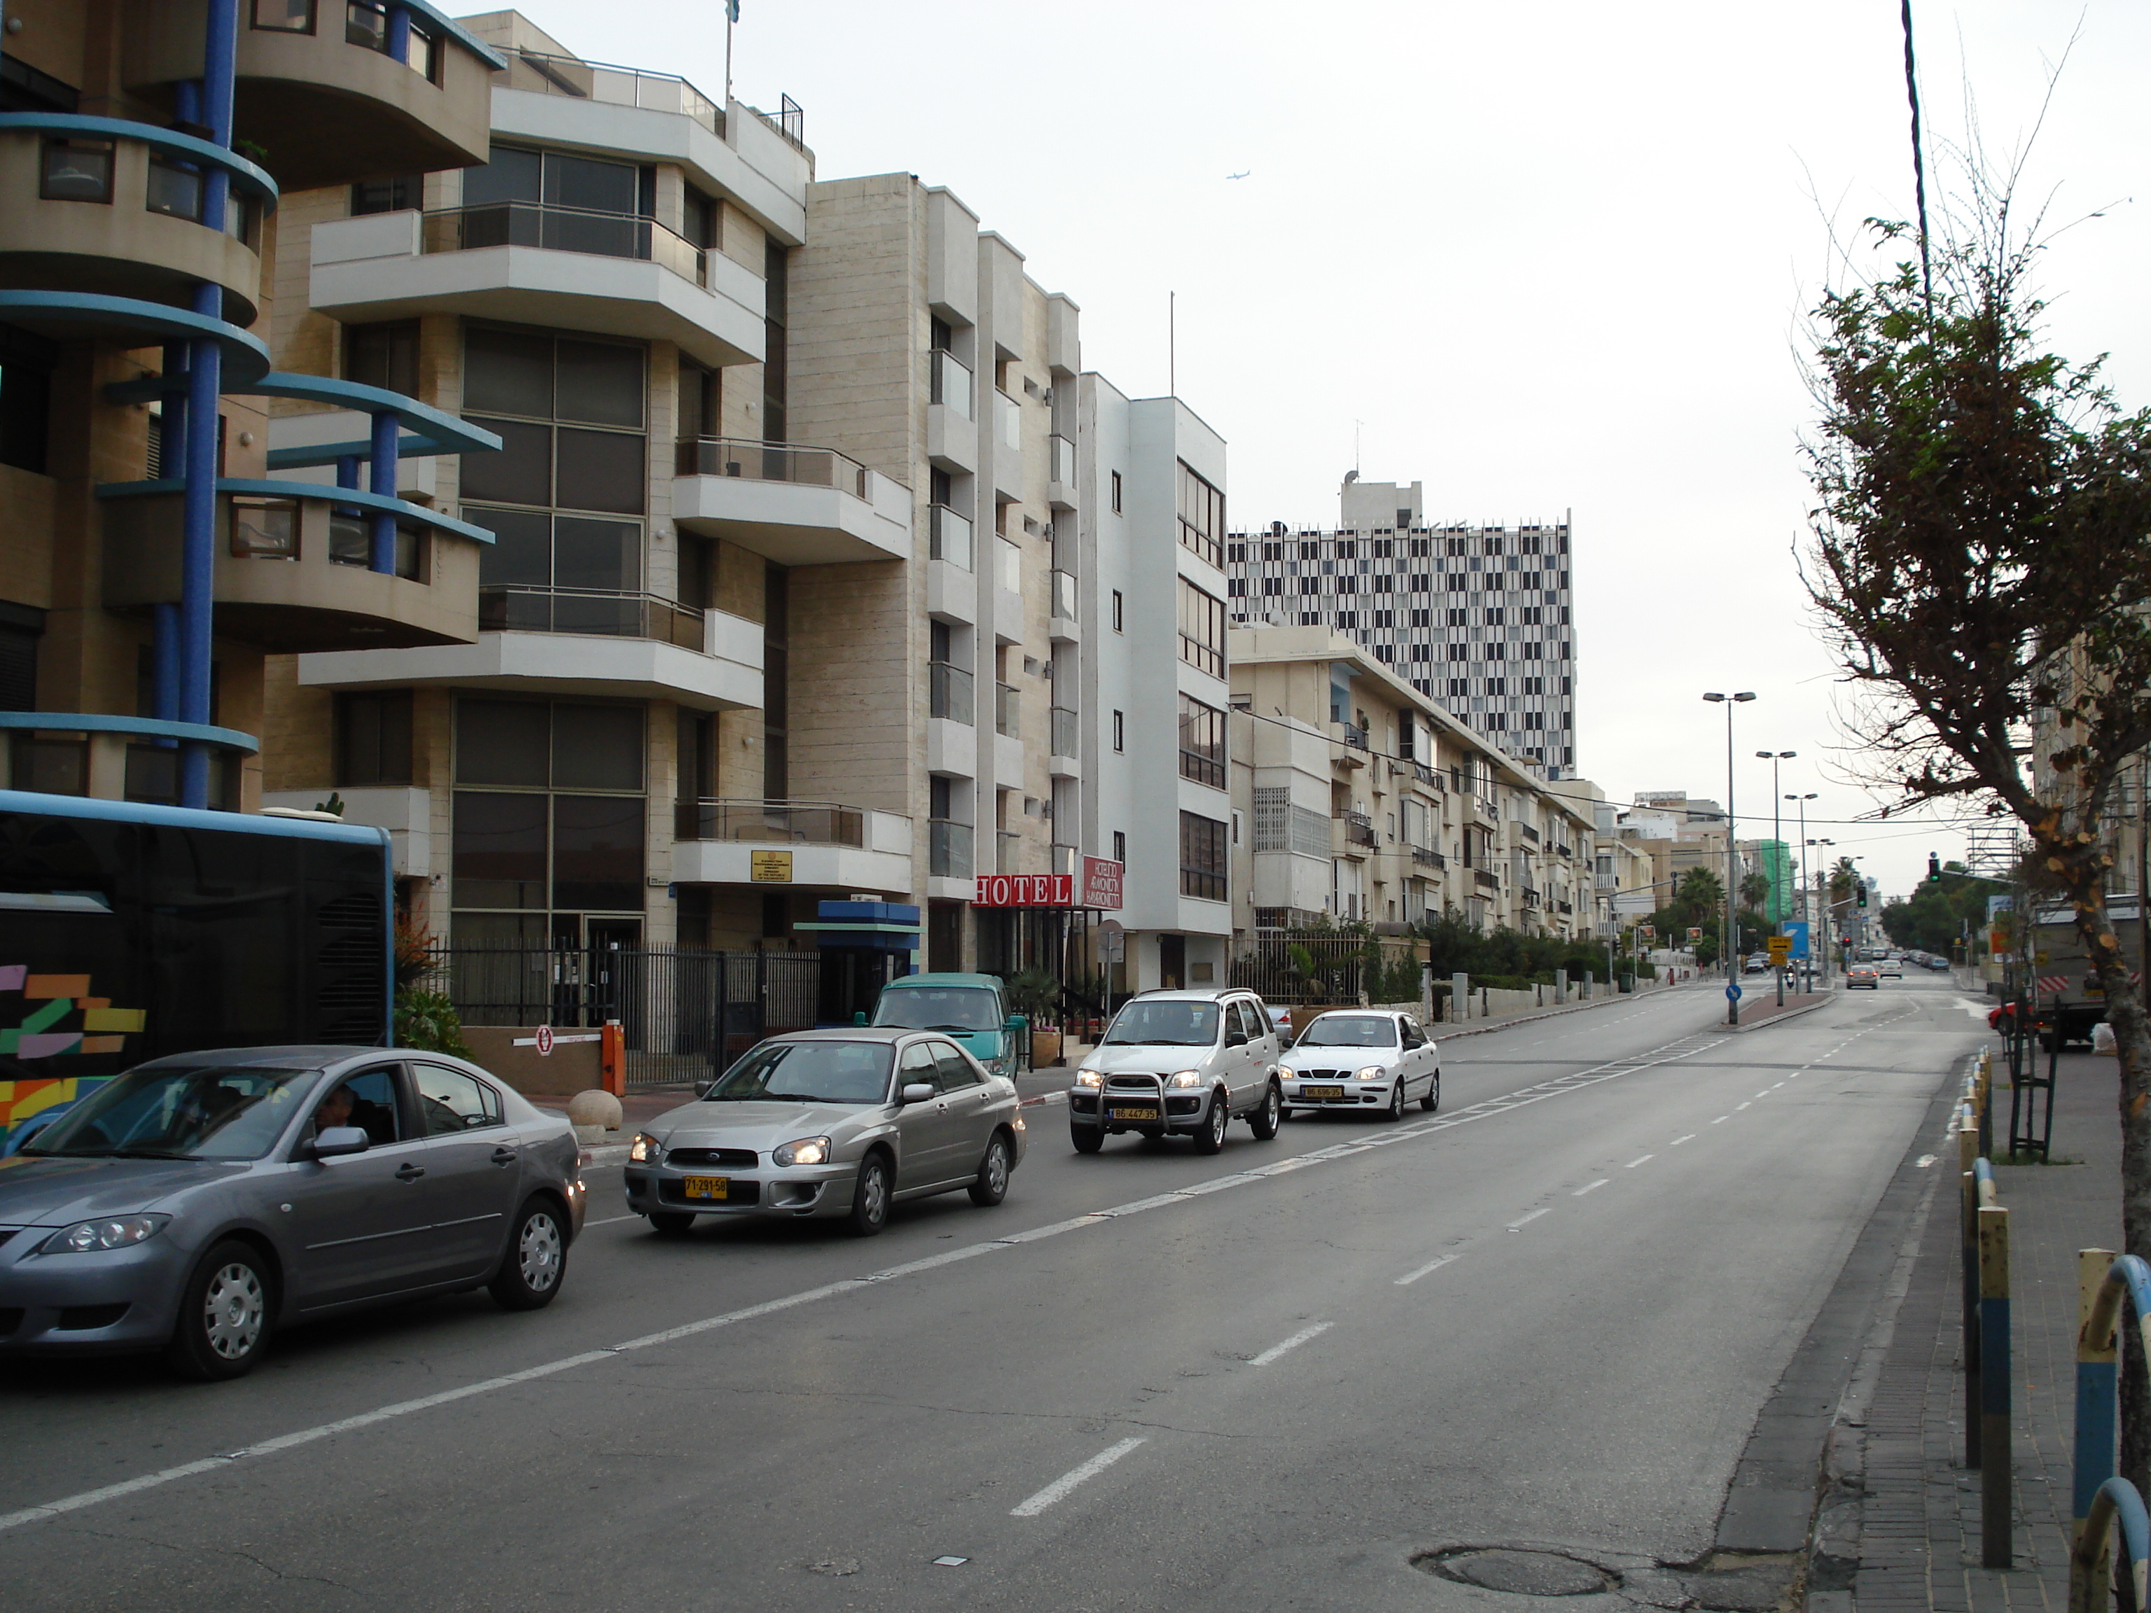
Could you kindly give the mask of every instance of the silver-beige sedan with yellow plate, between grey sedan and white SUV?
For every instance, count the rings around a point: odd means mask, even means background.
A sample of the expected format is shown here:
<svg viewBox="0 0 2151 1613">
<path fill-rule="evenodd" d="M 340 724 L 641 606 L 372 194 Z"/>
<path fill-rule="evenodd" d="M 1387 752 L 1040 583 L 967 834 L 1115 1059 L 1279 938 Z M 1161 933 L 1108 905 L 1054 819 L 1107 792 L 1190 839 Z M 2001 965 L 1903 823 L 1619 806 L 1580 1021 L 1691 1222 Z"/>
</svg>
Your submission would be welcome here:
<svg viewBox="0 0 2151 1613">
<path fill-rule="evenodd" d="M 863 1237 L 903 1198 L 998 1204 L 1024 1159 L 1015 1082 L 949 1037 L 858 1026 L 772 1037 L 628 1148 L 628 1209 L 658 1232 L 697 1215 L 843 1217 Z"/>
</svg>

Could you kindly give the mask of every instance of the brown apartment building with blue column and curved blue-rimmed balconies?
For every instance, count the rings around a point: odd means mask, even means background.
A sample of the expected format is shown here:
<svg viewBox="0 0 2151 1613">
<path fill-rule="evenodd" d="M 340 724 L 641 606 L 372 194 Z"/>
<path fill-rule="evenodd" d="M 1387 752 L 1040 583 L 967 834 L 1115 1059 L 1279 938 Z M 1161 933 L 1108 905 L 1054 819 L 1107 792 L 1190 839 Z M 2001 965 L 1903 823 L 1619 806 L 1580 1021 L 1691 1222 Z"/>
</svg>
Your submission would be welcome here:
<svg viewBox="0 0 2151 1613">
<path fill-rule="evenodd" d="M 271 656 L 478 639 L 493 533 L 404 497 L 398 462 L 424 475 L 499 439 L 417 385 L 284 368 L 273 336 L 293 299 L 293 198 L 480 161 L 497 67 L 422 0 L 6 6 L 13 787 L 254 809 Z M 303 260 L 297 277 L 303 303 Z M 271 449 L 288 404 L 342 422 L 336 497 Z"/>
</svg>

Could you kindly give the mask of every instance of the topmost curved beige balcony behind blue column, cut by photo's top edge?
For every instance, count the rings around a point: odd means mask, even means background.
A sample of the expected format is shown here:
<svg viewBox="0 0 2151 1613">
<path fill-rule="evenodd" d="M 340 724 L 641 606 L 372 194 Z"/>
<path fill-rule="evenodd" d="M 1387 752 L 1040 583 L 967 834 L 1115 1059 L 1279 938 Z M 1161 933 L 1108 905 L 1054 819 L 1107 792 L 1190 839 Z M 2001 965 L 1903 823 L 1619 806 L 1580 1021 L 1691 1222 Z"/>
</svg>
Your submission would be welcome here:
<svg viewBox="0 0 2151 1613">
<path fill-rule="evenodd" d="M 127 0 L 120 17 L 127 88 L 170 105 L 202 75 L 206 0 Z M 239 0 L 232 133 L 286 189 L 467 168 L 486 161 L 497 67 L 424 2 Z"/>
</svg>

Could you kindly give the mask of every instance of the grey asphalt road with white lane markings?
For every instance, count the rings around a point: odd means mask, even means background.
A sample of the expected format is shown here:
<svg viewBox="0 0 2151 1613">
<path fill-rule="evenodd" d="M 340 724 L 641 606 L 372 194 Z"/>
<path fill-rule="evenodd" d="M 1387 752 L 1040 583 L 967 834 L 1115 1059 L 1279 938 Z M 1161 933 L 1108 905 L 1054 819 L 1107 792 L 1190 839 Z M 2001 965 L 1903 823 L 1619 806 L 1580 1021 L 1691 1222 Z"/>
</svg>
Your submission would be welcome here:
<svg viewBox="0 0 2151 1613">
<path fill-rule="evenodd" d="M 1439 1114 L 1215 1159 L 1078 1157 L 1032 1108 L 1000 1209 L 875 1241 L 660 1241 L 600 1170 L 538 1314 L 295 1329 L 211 1387 L 9 1361 L 6 1604 L 1521 1613 L 1411 1557 L 1693 1559 L 1985 1037 L 1934 976 L 1721 1013 L 1706 985 L 1456 1039 Z"/>
</svg>

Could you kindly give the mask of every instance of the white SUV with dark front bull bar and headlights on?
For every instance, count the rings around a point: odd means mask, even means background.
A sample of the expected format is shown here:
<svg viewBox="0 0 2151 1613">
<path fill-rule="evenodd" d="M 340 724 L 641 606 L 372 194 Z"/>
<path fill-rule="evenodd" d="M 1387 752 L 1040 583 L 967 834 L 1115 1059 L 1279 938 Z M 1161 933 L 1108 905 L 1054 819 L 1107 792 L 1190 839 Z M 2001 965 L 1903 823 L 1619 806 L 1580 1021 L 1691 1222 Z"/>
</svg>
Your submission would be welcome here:
<svg viewBox="0 0 2151 1613">
<path fill-rule="evenodd" d="M 1144 991 L 1121 1004 L 1069 1086 L 1069 1140 L 1192 1136 L 1217 1153 L 1243 1118 L 1269 1142 L 1284 1118 L 1278 1032 L 1254 991 Z"/>
</svg>

